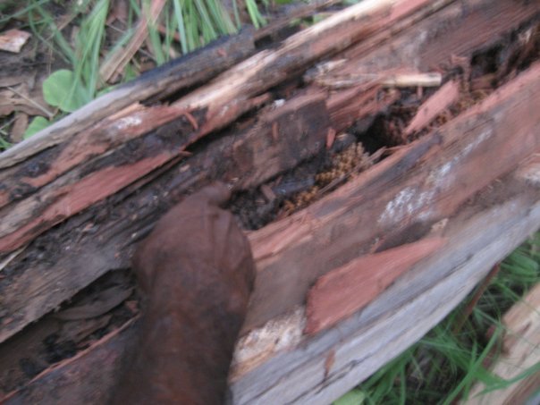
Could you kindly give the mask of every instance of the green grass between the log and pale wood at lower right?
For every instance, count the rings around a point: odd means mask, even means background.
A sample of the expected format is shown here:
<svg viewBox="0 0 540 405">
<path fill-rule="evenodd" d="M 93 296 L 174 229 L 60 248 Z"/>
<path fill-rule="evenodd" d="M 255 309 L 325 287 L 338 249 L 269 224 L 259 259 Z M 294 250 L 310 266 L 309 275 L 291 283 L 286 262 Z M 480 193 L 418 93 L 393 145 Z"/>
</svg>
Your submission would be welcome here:
<svg viewBox="0 0 540 405">
<path fill-rule="evenodd" d="M 488 392 L 540 371 L 540 364 L 536 364 L 506 381 L 484 367 L 485 360 L 493 362 L 501 350 L 502 316 L 538 282 L 540 232 L 504 259 L 501 271 L 494 276 L 465 323 L 462 314 L 474 292 L 420 342 L 335 404 L 446 405 L 467 398 L 470 388 L 478 381 L 485 384 L 485 392 Z M 490 330 L 493 332 L 488 338 Z"/>
</svg>

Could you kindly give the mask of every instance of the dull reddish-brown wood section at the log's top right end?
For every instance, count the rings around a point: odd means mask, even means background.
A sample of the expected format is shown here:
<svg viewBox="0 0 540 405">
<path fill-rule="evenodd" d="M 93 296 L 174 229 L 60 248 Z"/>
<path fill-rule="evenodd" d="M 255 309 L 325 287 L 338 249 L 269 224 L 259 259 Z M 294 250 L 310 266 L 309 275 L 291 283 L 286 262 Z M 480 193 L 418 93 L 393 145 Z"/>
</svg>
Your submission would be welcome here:
<svg viewBox="0 0 540 405">
<path fill-rule="evenodd" d="M 346 77 L 397 68 L 427 72 L 440 65 L 451 65 L 452 55 L 469 58 L 478 49 L 493 46 L 505 32 L 538 18 L 539 10 L 540 0 L 455 2 L 418 21 L 383 46 L 379 46 L 382 38 L 377 36 L 351 46 L 340 57 L 358 62 L 342 64 L 329 73 Z M 396 52 L 397 49 L 400 51 Z"/>
</svg>

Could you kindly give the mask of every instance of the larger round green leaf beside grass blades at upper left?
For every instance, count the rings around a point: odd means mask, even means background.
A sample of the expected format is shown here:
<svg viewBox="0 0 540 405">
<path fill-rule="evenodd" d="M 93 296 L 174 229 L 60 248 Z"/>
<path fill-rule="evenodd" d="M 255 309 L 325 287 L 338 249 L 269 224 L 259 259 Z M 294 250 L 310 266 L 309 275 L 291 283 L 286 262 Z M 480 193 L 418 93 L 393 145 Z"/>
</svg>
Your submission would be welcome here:
<svg viewBox="0 0 540 405">
<path fill-rule="evenodd" d="M 75 80 L 72 71 L 56 71 L 43 82 L 45 101 L 68 113 L 87 104 L 90 101 L 87 95 L 87 90 L 79 80 Z"/>
</svg>

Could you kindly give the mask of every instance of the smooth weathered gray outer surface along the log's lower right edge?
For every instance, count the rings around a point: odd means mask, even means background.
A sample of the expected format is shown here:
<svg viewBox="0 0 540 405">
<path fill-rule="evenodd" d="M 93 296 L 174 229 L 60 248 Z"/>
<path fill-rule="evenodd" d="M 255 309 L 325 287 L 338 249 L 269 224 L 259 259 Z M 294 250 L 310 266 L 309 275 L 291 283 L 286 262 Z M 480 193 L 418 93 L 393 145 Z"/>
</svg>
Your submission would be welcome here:
<svg viewBox="0 0 540 405">
<path fill-rule="evenodd" d="M 418 341 L 540 227 L 539 198 L 536 188 L 476 215 L 478 207 L 470 207 L 451 218 L 443 232 L 449 240 L 445 249 L 348 320 L 234 380 L 232 403 L 272 404 L 279 398 L 280 403 L 327 404 L 349 391 Z"/>
</svg>

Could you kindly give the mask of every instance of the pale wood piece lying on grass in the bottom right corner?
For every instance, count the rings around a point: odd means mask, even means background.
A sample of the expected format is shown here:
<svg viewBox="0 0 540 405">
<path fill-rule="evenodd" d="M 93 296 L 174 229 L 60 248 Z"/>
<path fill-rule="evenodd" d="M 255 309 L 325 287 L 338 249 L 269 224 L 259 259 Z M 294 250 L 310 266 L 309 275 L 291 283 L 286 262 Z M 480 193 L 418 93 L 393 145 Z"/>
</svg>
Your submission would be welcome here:
<svg viewBox="0 0 540 405">
<path fill-rule="evenodd" d="M 503 316 L 504 337 L 502 354 L 491 372 L 504 380 L 516 378 L 529 367 L 540 363 L 540 284 L 531 289 L 523 300 L 515 304 Z M 500 390 L 486 392 L 483 384 L 477 384 L 468 393 L 468 405 L 502 405 L 526 403 L 528 396 L 540 384 L 540 372 Z"/>
</svg>

